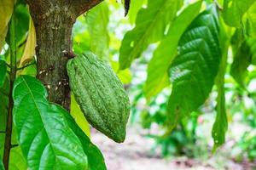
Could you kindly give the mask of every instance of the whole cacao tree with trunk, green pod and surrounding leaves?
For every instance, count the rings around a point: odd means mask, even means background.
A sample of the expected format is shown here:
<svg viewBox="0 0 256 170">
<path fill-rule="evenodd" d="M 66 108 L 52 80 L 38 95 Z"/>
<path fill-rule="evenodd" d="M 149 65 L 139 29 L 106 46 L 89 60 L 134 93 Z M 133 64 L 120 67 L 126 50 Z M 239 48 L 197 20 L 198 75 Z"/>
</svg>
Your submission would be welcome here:
<svg viewBox="0 0 256 170">
<path fill-rule="evenodd" d="M 108 57 L 108 3 L 116 2 L 0 0 L 0 169 L 107 169 L 86 120 L 124 142 L 131 106 L 122 75 L 151 44 L 143 95 L 150 101 L 172 87 L 165 135 L 216 87 L 213 150 L 224 144 L 225 74 L 230 68 L 246 90 L 256 59 L 255 1 L 125 0 L 133 27 L 119 63 Z M 72 31 L 81 15 L 90 38 L 79 46 Z"/>
</svg>

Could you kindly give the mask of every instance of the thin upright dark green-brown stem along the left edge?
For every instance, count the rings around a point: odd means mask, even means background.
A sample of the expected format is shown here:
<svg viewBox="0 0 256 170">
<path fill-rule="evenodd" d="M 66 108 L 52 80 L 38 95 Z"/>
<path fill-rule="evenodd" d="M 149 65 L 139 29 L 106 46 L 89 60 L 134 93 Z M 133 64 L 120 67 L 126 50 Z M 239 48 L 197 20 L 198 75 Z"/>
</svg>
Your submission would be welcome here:
<svg viewBox="0 0 256 170">
<path fill-rule="evenodd" d="M 10 21 L 10 85 L 9 85 L 9 106 L 7 113 L 7 123 L 6 123 L 6 134 L 5 134 L 5 143 L 3 150 L 3 165 L 6 170 L 9 169 L 9 156 L 10 150 L 12 148 L 11 139 L 12 139 L 12 128 L 13 128 L 13 108 L 14 100 L 12 98 L 12 90 L 14 87 L 15 77 L 16 77 L 16 35 L 15 35 L 15 13 L 13 14 Z"/>
</svg>

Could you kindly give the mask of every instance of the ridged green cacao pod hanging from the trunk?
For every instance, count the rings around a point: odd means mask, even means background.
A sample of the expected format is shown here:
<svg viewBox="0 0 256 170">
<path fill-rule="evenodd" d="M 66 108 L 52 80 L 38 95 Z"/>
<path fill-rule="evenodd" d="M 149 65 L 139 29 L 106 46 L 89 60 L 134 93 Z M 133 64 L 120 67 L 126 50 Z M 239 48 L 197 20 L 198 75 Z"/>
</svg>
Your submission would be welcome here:
<svg viewBox="0 0 256 170">
<path fill-rule="evenodd" d="M 130 101 L 111 67 L 88 52 L 69 59 L 67 73 L 87 121 L 115 142 L 124 142 Z"/>
</svg>

